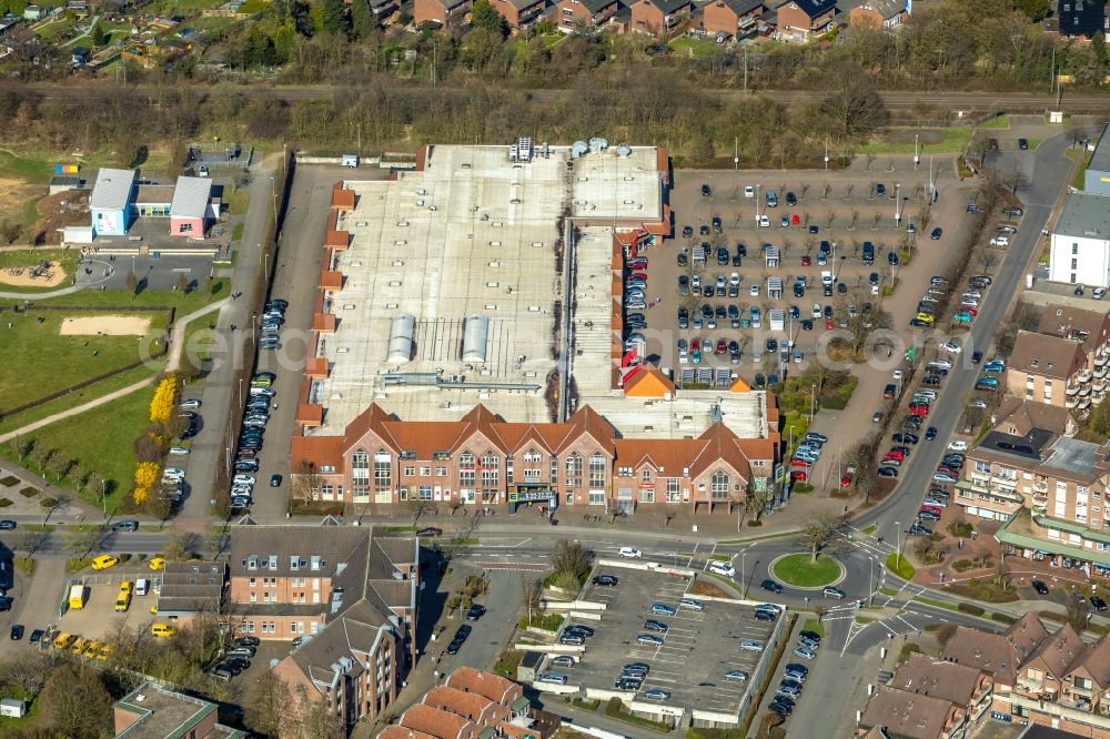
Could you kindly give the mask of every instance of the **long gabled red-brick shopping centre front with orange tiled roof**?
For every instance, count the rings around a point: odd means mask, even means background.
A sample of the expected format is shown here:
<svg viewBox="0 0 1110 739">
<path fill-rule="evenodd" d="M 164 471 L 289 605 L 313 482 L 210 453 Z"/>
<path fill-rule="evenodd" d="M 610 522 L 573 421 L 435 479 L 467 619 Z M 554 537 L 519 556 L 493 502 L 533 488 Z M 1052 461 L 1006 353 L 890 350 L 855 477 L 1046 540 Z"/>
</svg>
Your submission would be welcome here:
<svg viewBox="0 0 1110 739">
<path fill-rule="evenodd" d="M 343 436 L 294 437 L 295 474 L 322 500 L 396 505 L 533 503 L 633 512 L 678 504 L 731 509 L 773 484 L 776 441 L 739 438 L 723 423 L 692 439 L 619 438 L 588 406 L 566 423 L 508 423 L 477 406 L 460 421 L 407 422 L 377 405 Z"/>
</svg>

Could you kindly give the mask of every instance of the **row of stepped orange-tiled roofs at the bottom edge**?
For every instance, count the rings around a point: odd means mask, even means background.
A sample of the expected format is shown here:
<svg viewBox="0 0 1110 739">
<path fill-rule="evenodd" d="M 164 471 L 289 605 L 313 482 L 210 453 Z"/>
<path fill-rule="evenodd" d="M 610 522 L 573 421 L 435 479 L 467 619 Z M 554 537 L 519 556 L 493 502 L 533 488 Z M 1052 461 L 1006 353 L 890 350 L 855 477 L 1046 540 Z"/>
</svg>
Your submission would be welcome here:
<svg viewBox="0 0 1110 739">
<path fill-rule="evenodd" d="M 544 739 L 558 728 L 544 721 L 524 697 L 523 688 L 498 675 L 460 667 L 444 685 L 428 690 L 401 720 L 377 739 L 507 737 Z"/>
</svg>

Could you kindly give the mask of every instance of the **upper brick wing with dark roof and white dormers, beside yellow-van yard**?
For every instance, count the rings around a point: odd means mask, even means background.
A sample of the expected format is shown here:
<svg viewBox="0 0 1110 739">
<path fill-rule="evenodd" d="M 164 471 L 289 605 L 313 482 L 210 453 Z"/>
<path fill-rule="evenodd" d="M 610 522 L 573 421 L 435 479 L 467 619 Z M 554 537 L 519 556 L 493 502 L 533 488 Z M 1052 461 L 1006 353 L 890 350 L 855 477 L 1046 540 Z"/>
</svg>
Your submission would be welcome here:
<svg viewBox="0 0 1110 739">
<path fill-rule="evenodd" d="M 415 648 L 414 537 L 347 526 L 243 526 L 231 539 L 230 560 L 229 601 L 241 632 L 261 639 L 316 635 L 367 600 L 400 631 L 405 649 Z"/>
</svg>

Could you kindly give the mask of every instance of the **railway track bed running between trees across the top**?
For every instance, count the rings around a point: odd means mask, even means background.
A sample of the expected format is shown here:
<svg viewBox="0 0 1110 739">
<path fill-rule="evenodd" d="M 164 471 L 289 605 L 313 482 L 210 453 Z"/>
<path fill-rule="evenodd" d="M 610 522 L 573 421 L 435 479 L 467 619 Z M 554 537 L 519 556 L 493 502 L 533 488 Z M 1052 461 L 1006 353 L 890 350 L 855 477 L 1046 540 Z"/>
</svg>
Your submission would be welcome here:
<svg viewBox="0 0 1110 739">
<path fill-rule="evenodd" d="M 176 89 L 188 85 L 178 85 Z M 115 91 L 115 87 L 90 87 L 90 85 L 60 85 L 60 84 L 37 84 L 22 85 L 12 82 L 4 82 L 0 85 L 0 92 L 7 93 L 13 90 L 26 90 L 41 95 L 48 100 L 57 100 L 72 104 L 83 104 L 91 100 Z M 196 85 L 192 88 L 194 92 L 204 94 L 208 88 Z M 331 100 L 336 94 L 346 92 L 346 88 L 332 85 L 246 85 L 240 88 L 246 94 L 266 94 L 285 102 L 300 102 L 311 100 Z M 153 87 L 134 87 L 135 94 L 153 94 L 157 89 Z M 751 95 L 766 95 L 784 105 L 793 105 L 798 102 L 808 102 L 814 99 L 814 92 L 808 90 L 754 90 L 745 93 L 743 90 L 731 89 L 704 89 L 703 94 L 714 95 L 723 102 L 744 100 Z M 438 88 L 436 90 L 425 90 L 427 95 L 466 95 L 462 89 Z M 526 94 L 529 99 L 541 102 L 549 102 L 559 98 L 574 94 L 573 90 L 519 90 L 521 94 Z M 912 111 L 921 107 L 929 109 L 942 108 L 946 110 L 966 111 L 995 111 L 1005 110 L 1009 112 L 1037 112 L 1046 110 L 1062 110 L 1064 112 L 1078 113 L 1106 113 L 1110 112 L 1110 100 L 1106 95 L 1099 94 L 1066 94 L 1057 105 L 1056 95 L 1040 92 L 946 92 L 946 91 L 885 91 L 879 93 L 882 102 L 889 110 Z M 607 98 L 616 103 L 637 102 L 634 93 L 622 93 L 618 90 L 610 90 Z"/>
</svg>

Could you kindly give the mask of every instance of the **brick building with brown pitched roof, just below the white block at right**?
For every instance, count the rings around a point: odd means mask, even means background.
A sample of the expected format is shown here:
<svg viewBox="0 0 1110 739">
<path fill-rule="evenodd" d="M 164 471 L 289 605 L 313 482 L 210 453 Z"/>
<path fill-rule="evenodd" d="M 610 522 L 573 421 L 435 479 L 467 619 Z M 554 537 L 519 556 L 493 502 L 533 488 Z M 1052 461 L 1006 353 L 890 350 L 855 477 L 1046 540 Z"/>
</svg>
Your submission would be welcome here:
<svg viewBox="0 0 1110 739">
<path fill-rule="evenodd" d="M 1101 399 L 1106 391 L 1102 383 L 1102 392 L 1096 394 L 1093 379 L 1078 342 L 1031 331 L 1018 332 L 1006 367 L 1006 388 L 1011 394 L 1081 413 L 1090 408 L 1096 397 Z"/>
</svg>

